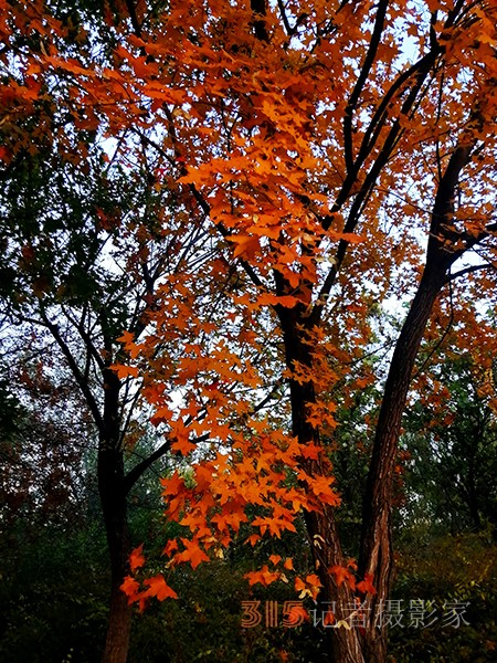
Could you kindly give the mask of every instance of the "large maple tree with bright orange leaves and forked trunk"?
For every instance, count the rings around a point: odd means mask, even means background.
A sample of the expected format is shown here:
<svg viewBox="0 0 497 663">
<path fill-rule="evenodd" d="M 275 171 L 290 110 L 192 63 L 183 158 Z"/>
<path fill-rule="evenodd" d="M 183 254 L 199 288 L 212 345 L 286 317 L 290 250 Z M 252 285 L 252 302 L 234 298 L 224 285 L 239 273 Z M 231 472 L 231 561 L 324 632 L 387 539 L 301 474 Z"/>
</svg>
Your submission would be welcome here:
<svg viewBox="0 0 497 663">
<path fill-rule="evenodd" d="M 142 378 L 165 449 L 193 461 L 190 477 L 163 480 L 168 517 L 186 527 L 170 564 L 221 556 L 242 528 L 252 545 L 278 537 L 304 513 L 316 572 L 297 572 L 297 590 L 366 600 L 363 632 L 332 630 L 334 660 L 384 661 L 376 623 L 413 368 L 430 319 L 441 334 L 441 302 L 465 315 L 458 281 L 479 296 L 495 287 L 497 3 L 104 3 L 105 46 L 56 3 L 3 9 L 7 168 L 44 133 L 74 159 L 84 141 L 70 145 L 65 113 L 76 133 L 117 139 L 125 171 L 147 154 L 169 203 L 159 232 L 179 256 L 195 240 L 195 260 L 148 293 L 148 337 L 128 327 L 130 360 L 114 362 L 116 379 Z M 363 421 L 355 573 L 335 515 L 336 411 L 378 378 L 364 355 L 388 297 L 410 309 L 379 414 Z M 283 578 L 274 567 L 251 582 Z M 129 576 L 124 589 L 141 602 L 173 594 L 163 576 L 146 583 Z"/>
</svg>

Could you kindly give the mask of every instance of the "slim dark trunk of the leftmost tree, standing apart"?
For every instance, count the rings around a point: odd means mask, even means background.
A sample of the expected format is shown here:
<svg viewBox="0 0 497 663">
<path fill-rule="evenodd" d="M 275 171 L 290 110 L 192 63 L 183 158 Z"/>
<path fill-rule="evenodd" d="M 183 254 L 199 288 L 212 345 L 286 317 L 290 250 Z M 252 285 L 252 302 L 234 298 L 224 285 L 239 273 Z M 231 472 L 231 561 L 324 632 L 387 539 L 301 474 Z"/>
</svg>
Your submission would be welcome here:
<svg viewBox="0 0 497 663">
<path fill-rule="evenodd" d="M 98 492 L 110 557 L 110 609 L 103 663 L 126 663 L 131 630 L 131 608 L 119 589 L 127 573 L 130 539 L 124 482 L 123 450 L 119 445 L 119 380 L 104 371 L 104 429 L 98 450 Z"/>
</svg>

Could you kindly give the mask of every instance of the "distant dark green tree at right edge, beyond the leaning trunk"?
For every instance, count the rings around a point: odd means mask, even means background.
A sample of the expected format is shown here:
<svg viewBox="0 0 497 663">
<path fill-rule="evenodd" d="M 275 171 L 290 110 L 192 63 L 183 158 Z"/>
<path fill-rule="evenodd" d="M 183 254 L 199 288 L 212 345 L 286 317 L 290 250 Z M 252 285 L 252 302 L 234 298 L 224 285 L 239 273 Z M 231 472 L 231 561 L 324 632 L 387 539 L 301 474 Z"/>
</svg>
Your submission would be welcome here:
<svg viewBox="0 0 497 663">
<path fill-rule="evenodd" d="M 441 398 L 416 399 L 405 419 L 408 514 L 442 532 L 497 532 L 496 389 L 477 361 L 466 354 L 433 367 Z"/>
</svg>

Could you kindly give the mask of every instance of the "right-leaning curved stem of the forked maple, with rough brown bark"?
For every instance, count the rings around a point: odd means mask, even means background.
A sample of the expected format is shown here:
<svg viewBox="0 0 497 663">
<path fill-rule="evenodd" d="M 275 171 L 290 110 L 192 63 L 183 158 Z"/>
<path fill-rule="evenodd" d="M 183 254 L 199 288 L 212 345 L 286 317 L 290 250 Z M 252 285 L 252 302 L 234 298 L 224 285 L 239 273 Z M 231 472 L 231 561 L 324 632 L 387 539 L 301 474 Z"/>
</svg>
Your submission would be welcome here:
<svg viewBox="0 0 497 663">
<path fill-rule="evenodd" d="M 393 569 L 392 482 L 402 414 L 408 399 L 411 373 L 433 305 L 447 281 L 447 271 L 464 249 L 453 224 L 455 188 L 461 171 L 472 155 L 470 145 L 457 147 L 440 181 L 432 212 L 426 262 L 417 292 L 395 344 L 390 364 L 363 499 L 360 575 L 370 573 L 377 593 L 370 600 L 364 633 L 367 663 L 387 660 L 387 629 L 381 611 L 389 599 Z"/>
</svg>

